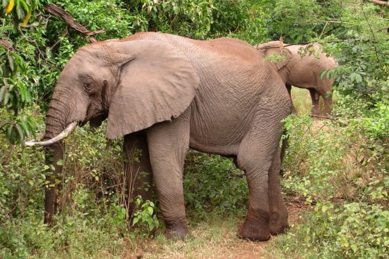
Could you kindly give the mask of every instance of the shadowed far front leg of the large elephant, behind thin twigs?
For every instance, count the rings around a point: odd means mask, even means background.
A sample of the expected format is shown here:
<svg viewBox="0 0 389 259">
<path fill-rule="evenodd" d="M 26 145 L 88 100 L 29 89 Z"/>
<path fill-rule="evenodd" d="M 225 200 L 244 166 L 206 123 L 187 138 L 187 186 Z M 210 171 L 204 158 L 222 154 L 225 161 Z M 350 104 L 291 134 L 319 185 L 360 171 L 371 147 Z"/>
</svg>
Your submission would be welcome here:
<svg viewBox="0 0 389 259">
<path fill-rule="evenodd" d="M 124 167 L 129 192 L 130 217 L 136 209 L 134 199 L 140 195 L 143 202 L 152 200 L 152 170 L 148 154 L 147 139 L 144 132 L 127 134 L 123 140 L 123 150 L 127 159 Z"/>
</svg>

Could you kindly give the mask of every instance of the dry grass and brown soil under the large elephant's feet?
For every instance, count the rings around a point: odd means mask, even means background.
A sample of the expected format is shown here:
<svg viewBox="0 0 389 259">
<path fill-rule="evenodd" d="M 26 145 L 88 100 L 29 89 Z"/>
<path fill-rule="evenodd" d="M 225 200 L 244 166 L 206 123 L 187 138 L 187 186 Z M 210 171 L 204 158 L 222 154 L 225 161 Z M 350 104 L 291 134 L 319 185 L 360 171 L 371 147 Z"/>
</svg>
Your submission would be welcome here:
<svg viewBox="0 0 389 259">
<path fill-rule="evenodd" d="M 299 224 L 300 213 L 307 209 L 298 200 L 288 204 L 289 225 Z M 242 222 L 241 222 L 242 223 Z M 125 259 L 270 259 L 268 245 L 277 237 L 272 236 L 265 242 L 240 239 L 236 236 L 236 226 L 241 224 L 232 220 L 228 223 L 200 224 L 191 228 L 194 239 L 171 242 L 168 240 L 149 240 L 142 248 L 133 247 L 123 256 Z M 217 227 L 214 227 L 214 224 Z M 129 244 L 129 247 L 131 244 Z M 135 248 L 135 249 L 134 249 Z"/>
</svg>

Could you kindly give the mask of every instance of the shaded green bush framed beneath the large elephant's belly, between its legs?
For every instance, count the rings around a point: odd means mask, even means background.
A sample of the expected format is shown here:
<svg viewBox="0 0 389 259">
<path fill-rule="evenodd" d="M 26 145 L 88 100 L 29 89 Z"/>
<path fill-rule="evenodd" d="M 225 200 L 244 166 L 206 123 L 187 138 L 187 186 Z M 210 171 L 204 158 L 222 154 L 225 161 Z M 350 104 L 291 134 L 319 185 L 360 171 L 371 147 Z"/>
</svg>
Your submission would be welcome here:
<svg viewBox="0 0 389 259">
<path fill-rule="evenodd" d="M 185 207 L 190 214 L 206 217 L 244 215 L 248 200 L 246 177 L 231 159 L 191 151 L 185 162 Z"/>
</svg>

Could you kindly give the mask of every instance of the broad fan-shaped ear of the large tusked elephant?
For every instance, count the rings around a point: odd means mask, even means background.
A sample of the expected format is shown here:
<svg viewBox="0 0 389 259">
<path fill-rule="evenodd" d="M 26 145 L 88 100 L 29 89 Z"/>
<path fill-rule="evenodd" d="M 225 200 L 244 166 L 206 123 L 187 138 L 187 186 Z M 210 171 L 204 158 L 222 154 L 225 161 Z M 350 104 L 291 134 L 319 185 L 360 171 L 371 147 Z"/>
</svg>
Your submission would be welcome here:
<svg viewBox="0 0 389 259">
<path fill-rule="evenodd" d="M 120 77 L 109 105 L 108 139 L 176 118 L 195 97 L 200 78 L 174 46 L 160 40 L 113 41 L 107 46 Z"/>
</svg>

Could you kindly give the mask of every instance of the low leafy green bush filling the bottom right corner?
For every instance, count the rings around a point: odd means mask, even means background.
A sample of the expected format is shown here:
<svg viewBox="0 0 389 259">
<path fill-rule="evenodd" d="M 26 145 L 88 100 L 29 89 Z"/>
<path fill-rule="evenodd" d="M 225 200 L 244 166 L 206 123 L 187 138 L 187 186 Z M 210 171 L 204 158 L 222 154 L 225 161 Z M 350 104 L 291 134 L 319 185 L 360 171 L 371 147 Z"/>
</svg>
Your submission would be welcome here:
<svg viewBox="0 0 389 259">
<path fill-rule="evenodd" d="M 276 245 L 299 258 L 387 258 L 389 211 L 360 202 L 320 203 Z"/>
</svg>

